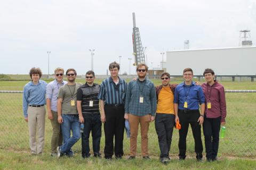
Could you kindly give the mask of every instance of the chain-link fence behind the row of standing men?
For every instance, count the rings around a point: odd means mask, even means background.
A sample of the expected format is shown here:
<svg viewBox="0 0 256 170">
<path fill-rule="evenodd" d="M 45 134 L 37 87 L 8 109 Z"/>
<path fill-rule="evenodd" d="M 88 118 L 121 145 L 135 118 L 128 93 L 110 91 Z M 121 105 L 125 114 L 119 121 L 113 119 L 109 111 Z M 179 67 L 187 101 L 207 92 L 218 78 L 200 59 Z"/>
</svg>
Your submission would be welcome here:
<svg viewBox="0 0 256 170">
<path fill-rule="evenodd" d="M 227 131 L 225 138 L 220 139 L 219 155 L 256 157 L 255 91 L 247 91 L 243 94 L 226 93 L 226 99 Z M 22 91 L 20 93 L 1 91 L 0 108 L 0 148 L 29 151 L 28 124 L 25 122 L 22 113 Z M 50 121 L 47 120 L 47 114 L 45 118 L 45 152 L 50 153 L 52 129 Z M 159 147 L 154 123 L 150 124 L 148 138 L 150 154 L 158 156 Z M 178 139 L 178 130 L 174 129 L 171 154 L 178 155 Z M 203 130 L 202 140 L 204 141 Z M 102 128 L 101 150 L 103 150 L 104 143 L 105 137 Z M 129 154 L 129 146 L 129 140 L 124 139 L 125 154 Z M 138 148 L 140 148 L 139 135 Z M 73 149 L 81 152 L 81 141 L 78 141 Z M 194 153 L 194 139 L 191 130 L 189 130 L 187 137 L 187 151 L 188 153 Z"/>
</svg>

